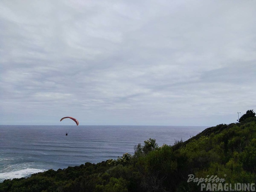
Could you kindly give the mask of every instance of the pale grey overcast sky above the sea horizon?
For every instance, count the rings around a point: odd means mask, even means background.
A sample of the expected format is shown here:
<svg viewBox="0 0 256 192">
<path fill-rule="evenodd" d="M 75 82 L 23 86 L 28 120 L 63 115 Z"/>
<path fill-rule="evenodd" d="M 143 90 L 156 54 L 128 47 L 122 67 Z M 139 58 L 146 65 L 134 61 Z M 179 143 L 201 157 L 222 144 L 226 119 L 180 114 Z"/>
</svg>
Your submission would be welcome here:
<svg viewBox="0 0 256 192">
<path fill-rule="evenodd" d="M 2 0 L 0 124 L 235 123 L 256 111 L 255 7 Z"/>
</svg>

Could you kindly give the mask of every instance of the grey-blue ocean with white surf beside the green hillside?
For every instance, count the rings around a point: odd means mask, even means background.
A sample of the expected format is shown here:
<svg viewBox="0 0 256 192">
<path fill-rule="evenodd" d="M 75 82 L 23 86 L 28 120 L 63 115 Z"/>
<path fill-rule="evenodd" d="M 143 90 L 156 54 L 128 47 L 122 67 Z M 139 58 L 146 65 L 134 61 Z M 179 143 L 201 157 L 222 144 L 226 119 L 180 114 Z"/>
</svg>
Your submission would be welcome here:
<svg viewBox="0 0 256 192">
<path fill-rule="evenodd" d="M 158 146 L 186 141 L 207 126 L 0 125 L 0 182 L 48 169 L 99 163 L 133 154 L 152 138 Z M 68 135 L 66 136 L 66 132 Z"/>
</svg>

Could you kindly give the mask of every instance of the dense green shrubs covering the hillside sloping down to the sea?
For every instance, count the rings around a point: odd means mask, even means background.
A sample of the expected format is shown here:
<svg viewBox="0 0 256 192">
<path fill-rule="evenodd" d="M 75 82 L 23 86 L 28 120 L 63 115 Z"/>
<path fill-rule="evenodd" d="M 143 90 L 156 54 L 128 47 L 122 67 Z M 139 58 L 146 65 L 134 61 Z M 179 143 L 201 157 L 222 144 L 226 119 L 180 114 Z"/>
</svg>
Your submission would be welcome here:
<svg viewBox="0 0 256 192">
<path fill-rule="evenodd" d="M 200 191 L 198 178 L 218 176 L 225 183 L 256 183 L 256 117 L 220 124 L 174 145 L 158 146 L 155 139 L 98 164 L 48 170 L 28 178 L 5 180 L 4 191 Z M 217 190 L 216 190 L 217 191 Z"/>
</svg>

